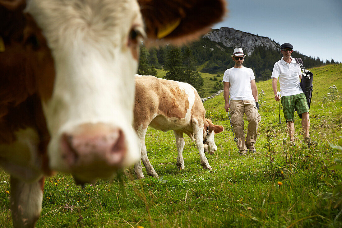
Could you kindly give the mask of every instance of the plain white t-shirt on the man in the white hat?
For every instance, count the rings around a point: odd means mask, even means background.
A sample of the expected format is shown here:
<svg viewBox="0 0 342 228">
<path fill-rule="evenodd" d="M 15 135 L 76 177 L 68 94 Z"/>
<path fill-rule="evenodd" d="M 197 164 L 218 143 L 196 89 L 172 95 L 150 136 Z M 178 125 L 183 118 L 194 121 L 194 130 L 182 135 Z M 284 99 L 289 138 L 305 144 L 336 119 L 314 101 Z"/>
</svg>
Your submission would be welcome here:
<svg viewBox="0 0 342 228">
<path fill-rule="evenodd" d="M 235 100 L 254 100 L 251 88 L 251 80 L 255 79 L 251 68 L 232 67 L 226 69 L 222 81 L 229 83 L 229 101 Z"/>
</svg>

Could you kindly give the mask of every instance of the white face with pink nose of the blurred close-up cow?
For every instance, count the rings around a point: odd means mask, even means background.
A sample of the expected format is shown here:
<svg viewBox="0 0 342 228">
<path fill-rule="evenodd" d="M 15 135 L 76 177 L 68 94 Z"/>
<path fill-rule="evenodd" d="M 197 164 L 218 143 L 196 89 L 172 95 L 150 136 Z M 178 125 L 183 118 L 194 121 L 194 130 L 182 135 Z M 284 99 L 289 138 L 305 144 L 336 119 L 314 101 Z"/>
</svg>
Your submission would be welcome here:
<svg viewBox="0 0 342 228">
<path fill-rule="evenodd" d="M 41 29 L 55 72 L 42 100 L 50 168 L 87 182 L 138 161 L 131 124 L 145 34 L 139 4 L 31 0 L 25 12 Z"/>
</svg>

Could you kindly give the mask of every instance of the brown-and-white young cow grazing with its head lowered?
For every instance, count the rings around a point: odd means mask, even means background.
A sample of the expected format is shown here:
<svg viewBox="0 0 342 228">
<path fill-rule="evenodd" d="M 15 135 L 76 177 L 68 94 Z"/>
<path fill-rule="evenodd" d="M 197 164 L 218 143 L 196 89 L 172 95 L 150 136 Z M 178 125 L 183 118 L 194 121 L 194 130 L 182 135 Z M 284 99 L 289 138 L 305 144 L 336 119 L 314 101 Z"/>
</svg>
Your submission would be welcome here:
<svg viewBox="0 0 342 228">
<path fill-rule="evenodd" d="M 147 127 L 157 130 L 173 130 L 178 151 L 177 167 L 184 169 L 183 133 L 195 141 L 201 164 L 211 170 L 205 151 L 217 150 L 215 133 L 223 131 L 222 126 L 213 125 L 206 119 L 206 110 L 196 89 L 190 84 L 166 80 L 155 76 L 135 76 L 135 105 L 133 127 L 140 139 L 141 160 L 148 175 L 158 177 L 148 160 L 145 145 Z M 137 178 L 144 178 L 141 162 L 134 165 Z"/>
</svg>

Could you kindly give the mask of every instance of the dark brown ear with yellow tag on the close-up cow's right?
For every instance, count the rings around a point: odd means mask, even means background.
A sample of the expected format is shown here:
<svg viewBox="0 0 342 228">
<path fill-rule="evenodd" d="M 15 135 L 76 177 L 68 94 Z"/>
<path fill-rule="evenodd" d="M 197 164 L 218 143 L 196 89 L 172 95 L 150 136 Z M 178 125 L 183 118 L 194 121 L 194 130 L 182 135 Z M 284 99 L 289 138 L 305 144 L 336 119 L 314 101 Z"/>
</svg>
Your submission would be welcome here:
<svg viewBox="0 0 342 228">
<path fill-rule="evenodd" d="M 207 33 L 226 12 L 224 0 L 138 0 L 149 42 L 181 44 Z"/>
</svg>

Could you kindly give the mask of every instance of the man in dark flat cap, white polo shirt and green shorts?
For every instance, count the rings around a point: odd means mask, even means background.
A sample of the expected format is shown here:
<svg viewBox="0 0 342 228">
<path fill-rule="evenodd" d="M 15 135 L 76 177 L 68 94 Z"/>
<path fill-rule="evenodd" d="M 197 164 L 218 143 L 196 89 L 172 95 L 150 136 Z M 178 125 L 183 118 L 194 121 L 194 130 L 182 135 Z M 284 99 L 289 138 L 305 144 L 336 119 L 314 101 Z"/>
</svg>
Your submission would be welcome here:
<svg viewBox="0 0 342 228">
<path fill-rule="evenodd" d="M 276 101 L 281 100 L 291 144 L 294 145 L 294 108 L 297 108 L 297 113 L 302 114 L 304 142 L 310 147 L 312 141 L 309 137 L 309 107 L 306 103 L 305 94 L 300 87 L 300 79 L 302 79 L 301 68 L 295 59 L 291 57 L 293 46 L 290 43 L 283 43 L 280 48 L 280 52 L 284 57 L 274 64 L 271 76 L 274 99 Z M 278 78 L 281 98 L 277 94 Z"/>
</svg>

